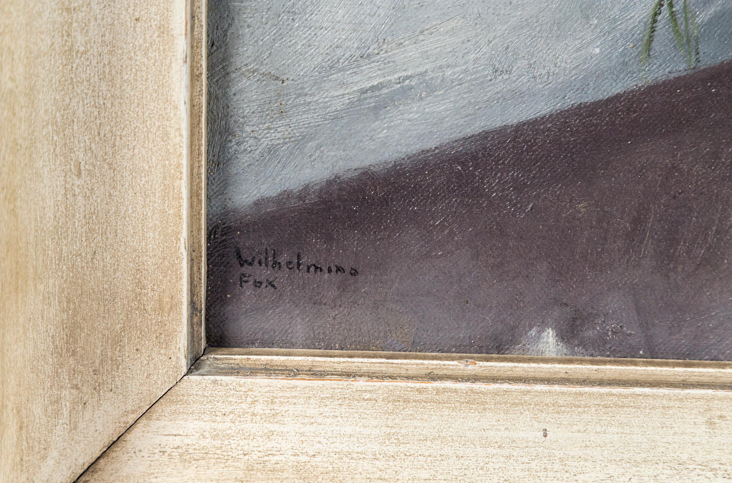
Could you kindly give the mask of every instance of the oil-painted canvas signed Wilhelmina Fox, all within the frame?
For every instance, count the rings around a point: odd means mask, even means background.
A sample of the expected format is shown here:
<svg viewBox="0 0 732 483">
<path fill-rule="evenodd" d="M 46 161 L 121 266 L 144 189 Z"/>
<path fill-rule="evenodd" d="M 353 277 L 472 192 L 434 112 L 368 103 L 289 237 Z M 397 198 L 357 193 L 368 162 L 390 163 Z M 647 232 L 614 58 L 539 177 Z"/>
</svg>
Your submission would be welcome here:
<svg viewBox="0 0 732 483">
<path fill-rule="evenodd" d="M 731 360 L 730 25 L 209 2 L 209 345 Z"/>
</svg>

